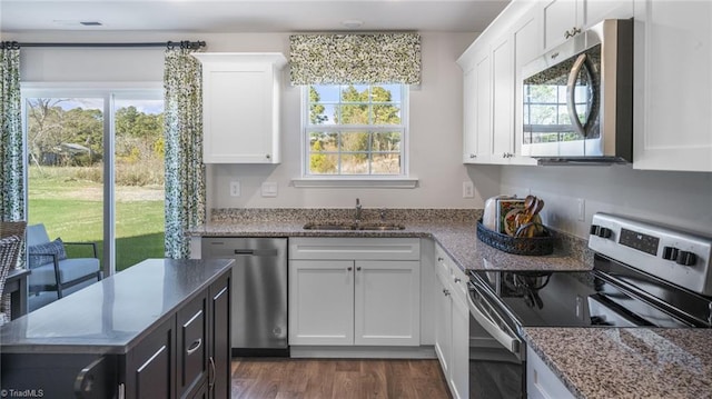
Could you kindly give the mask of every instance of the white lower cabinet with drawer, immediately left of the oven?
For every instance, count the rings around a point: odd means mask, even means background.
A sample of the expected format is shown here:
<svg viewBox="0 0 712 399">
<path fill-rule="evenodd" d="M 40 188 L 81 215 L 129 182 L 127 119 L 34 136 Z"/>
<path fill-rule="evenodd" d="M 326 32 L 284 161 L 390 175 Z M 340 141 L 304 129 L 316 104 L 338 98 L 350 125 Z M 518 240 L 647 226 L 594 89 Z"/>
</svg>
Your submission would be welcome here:
<svg viewBox="0 0 712 399">
<path fill-rule="evenodd" d="M 453 398 L 469 398 L 469 309 L 465 273 L 435 248 L 437 318 L 435 353 Z"/>
</svg>

